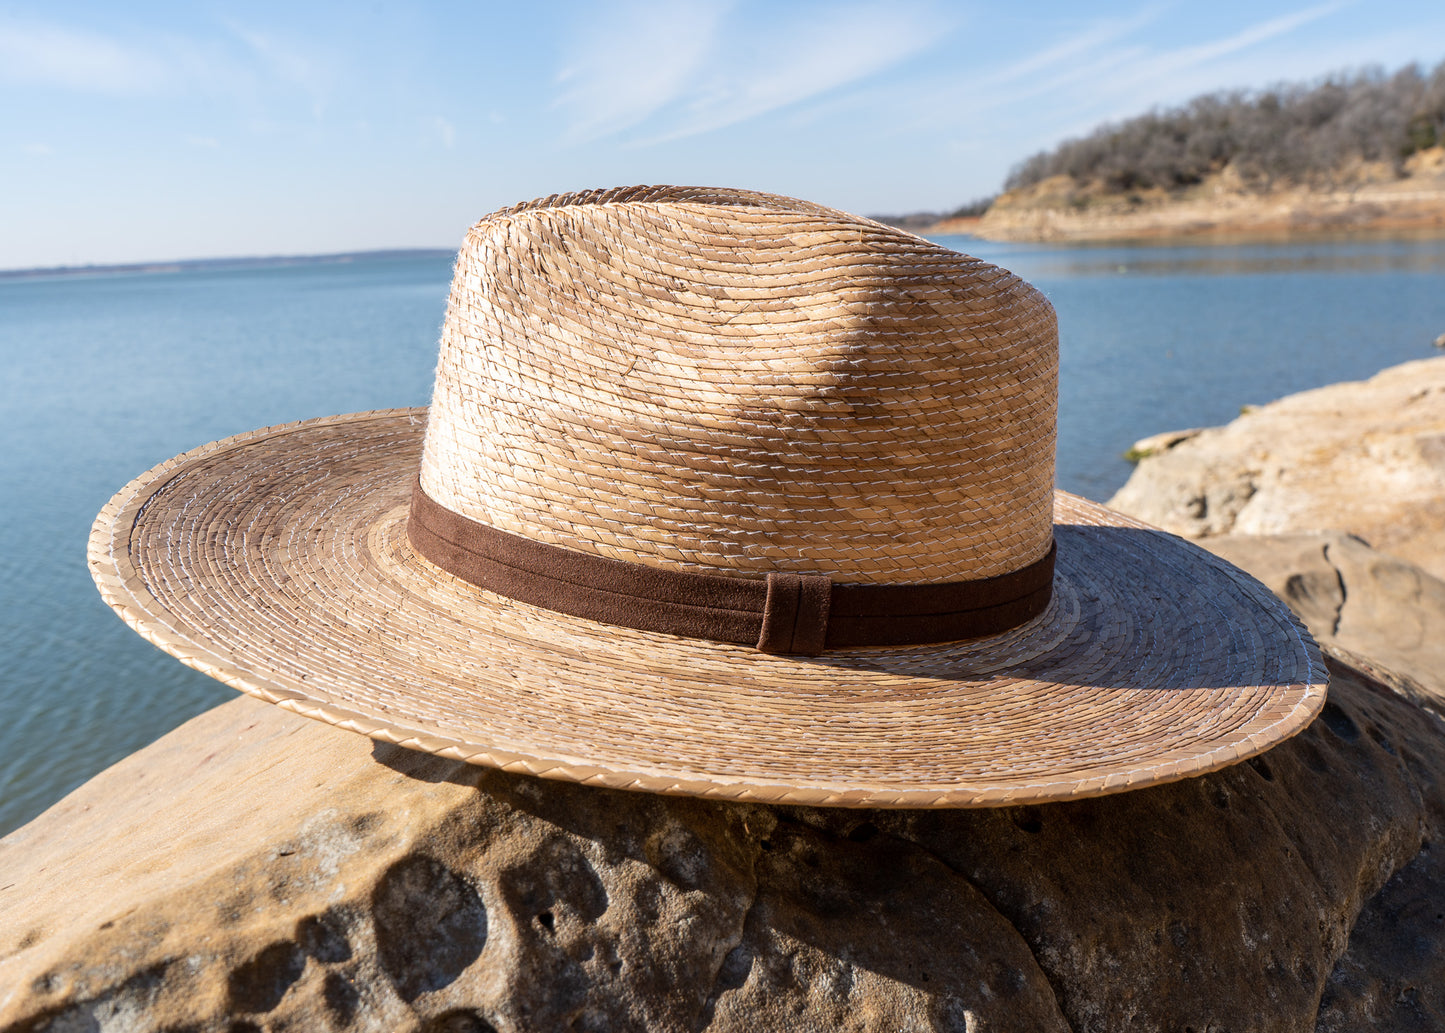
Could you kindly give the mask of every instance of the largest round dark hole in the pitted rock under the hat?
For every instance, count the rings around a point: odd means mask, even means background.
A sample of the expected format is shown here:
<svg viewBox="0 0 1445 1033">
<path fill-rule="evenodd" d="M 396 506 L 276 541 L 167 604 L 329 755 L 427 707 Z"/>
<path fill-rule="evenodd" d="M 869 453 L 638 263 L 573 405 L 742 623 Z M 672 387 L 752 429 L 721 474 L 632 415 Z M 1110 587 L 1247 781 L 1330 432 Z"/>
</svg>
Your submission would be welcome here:
<svg viewBox="0 0 1445 1033">
<path fill-rule="evenodd" d="M 487 907 L 441 861 L 418 854 L 393 864 L 371 894 L 376 954 L 403 1001 L 449 985 L 487 945 Z"/>
</svg>

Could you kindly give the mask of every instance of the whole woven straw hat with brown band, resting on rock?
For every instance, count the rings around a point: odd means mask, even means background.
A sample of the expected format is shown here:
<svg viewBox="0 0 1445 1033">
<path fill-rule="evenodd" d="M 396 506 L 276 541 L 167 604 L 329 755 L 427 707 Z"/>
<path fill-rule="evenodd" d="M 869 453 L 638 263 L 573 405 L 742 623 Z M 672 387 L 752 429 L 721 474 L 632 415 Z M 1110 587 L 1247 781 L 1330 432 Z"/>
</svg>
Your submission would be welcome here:
<svg viewBox="0 0 1445 1033">
<path fill-rule="evenodd" d="M 468 233 L 429 409 L 163 462 L 91 566 L 243 692 L 598 786 L 988 806 L 1295 734 L 1289 611 L 1053 491 L 1056 341 L 1019 277 L 854 215 L 551 196 Z"/>
</svg>

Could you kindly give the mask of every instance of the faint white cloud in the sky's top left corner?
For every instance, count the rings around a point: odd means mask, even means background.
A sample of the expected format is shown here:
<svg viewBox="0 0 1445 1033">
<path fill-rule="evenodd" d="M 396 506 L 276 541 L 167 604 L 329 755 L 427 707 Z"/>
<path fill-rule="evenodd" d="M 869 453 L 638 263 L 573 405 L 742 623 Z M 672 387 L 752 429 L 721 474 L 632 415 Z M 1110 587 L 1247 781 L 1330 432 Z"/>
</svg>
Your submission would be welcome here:
<svg viewBox="0 0 1445 1033">
<path fill-rule="evenodd" d="M 0 78 L 87 92 L 136 94 L 169 78 L 153 55 L 90 32 L 0 20 Z"/>
</svg>

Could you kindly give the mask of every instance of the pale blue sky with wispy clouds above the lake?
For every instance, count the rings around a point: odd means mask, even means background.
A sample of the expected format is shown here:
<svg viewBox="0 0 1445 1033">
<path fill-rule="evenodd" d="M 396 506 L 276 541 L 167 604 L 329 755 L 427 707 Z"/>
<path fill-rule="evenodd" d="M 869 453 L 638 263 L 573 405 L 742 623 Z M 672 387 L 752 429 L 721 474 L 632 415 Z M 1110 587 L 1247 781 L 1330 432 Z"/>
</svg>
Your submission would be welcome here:
<svg viewBox="0 0 1445 1033">
<path fill-rule="evenodd" d="M 454 247 L 634 182 L 948 209 L 1104 120 L 1441 59 L 1441 0 L 0 0 L 0 269 Z"/>
</svg>

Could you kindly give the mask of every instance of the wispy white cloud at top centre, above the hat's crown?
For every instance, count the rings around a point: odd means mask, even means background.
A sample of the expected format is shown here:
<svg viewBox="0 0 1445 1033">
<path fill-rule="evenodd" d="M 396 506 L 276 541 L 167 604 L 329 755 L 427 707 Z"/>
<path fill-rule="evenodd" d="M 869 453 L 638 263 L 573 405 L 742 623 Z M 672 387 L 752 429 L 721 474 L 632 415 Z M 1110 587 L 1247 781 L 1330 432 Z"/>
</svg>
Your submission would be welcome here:
<svg viewBox="0 0 1445 1033">
<path fill-rule="evenodd" d="M 657 143 L 757 118 L 907 59 L 945 20 L 916 3 L 777 7 L 760 32 L 756 14 L 717 0 L 608 12 L 558 77 L 568 142 L 642 129 L 639 142 Z"/>
</svg>

